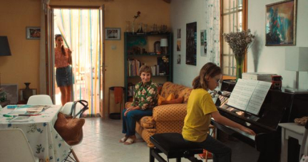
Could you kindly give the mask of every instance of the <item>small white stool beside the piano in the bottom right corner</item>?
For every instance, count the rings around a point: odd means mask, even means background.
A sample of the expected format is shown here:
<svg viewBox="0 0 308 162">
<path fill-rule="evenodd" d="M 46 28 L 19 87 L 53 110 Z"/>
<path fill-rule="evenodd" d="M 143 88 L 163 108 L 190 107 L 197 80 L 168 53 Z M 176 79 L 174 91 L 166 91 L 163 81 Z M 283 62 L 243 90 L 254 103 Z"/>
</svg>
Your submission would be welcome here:
<svg viewBox="0 0 308 162">
<path fill-rule="evenodd" d="M 278 125 L 282 127 L 282 151 L 280 154 L 280 161 L 287 162 L 289 137 L 298 139 L 299 145 L 301 145 L 305 128 L 304 126 L 299 126 L 296 123 L 281 123 Z"/>
</svg>

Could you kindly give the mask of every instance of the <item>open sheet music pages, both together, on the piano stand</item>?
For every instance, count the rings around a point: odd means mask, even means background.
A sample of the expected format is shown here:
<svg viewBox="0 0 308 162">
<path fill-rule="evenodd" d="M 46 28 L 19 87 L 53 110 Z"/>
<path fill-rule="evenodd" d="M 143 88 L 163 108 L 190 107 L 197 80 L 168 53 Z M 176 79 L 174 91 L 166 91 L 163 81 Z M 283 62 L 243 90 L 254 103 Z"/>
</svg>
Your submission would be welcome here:
<svg viewBox="0 0 308 162">
<path fill-rule="evenodd" d="M 252 114 L 259 114 L 271 85 L 271 82 L 239 79 L 227 104 Z"/>
</svg>

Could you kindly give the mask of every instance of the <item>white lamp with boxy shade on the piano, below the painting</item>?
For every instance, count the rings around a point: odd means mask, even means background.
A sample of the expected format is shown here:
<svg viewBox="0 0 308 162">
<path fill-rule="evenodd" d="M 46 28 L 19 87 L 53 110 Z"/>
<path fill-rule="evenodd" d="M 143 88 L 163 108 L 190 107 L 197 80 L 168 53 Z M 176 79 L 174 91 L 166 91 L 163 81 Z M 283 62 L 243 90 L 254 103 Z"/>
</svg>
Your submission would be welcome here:
<svg viewBox="0 0 308 162">
<path fill-rule="evenodd" d="M 296 71 L 295 89 L 286 89 L 290 92 L 301 92 L 299 90 L 299 72 L 308 71 L 308 48 L 288 47 L 285 50 L 285 70 Z M 305 91 L 305 90 L 304 90 Z"/>
</svg>

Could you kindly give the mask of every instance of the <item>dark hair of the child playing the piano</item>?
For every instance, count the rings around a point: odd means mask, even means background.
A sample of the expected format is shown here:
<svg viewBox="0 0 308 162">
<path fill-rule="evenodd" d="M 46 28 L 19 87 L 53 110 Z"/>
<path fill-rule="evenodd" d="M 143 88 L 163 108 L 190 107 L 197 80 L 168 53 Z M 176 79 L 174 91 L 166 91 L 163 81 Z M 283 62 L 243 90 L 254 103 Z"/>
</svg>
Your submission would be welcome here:
<svg viewBox="0 0 308 162">
<path fill-rule="evenodd" d="M 215 63 L 206 63 L 200 70 L 199 76 L 195 77 L 193 80 L 193 89 L 203 88 L 207 90 L 208 82 L 206 80 L 207 76 L 215 77 L 220 75 L 222 70 Z"/>
</svg>

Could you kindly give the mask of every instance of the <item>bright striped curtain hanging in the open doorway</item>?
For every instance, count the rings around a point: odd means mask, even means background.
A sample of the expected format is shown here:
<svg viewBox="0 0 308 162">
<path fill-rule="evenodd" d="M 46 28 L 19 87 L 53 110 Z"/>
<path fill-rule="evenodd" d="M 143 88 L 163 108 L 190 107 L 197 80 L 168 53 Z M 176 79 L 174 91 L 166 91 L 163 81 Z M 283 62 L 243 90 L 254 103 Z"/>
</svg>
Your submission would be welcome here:
<svg viewBox="0 0 308 162">
<path fill-rule="evenodd" d="M 55 9 L 55 34 L 73 51 L 73 100 L 88 101 L 85 114 L 99 113 L 99 11 Z"/>
</svg>

